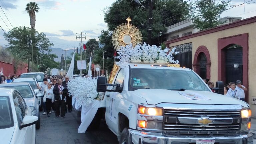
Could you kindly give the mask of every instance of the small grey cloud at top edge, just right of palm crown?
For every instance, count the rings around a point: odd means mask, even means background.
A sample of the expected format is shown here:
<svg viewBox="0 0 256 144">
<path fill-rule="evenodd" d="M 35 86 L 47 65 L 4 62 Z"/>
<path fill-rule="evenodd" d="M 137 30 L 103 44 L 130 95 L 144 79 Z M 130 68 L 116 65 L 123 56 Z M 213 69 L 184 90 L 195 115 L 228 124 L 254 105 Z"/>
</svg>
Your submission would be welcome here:
<svg viewBox="0 0 256 144">
<path fill-rule="evenodd" d="M 54 0 L 36 0 L 38 2 L 38 7 L 43 7 L 44 9 L 58 10 L 62 3 Z"/>
</svg>

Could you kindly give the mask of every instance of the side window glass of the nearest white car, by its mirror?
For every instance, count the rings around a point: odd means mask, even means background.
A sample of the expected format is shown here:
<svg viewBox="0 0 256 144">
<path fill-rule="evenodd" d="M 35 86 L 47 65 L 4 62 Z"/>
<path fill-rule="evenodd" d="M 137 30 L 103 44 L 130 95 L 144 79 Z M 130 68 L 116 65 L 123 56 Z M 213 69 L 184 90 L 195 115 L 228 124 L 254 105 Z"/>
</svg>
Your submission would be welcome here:
<svg viewBox="0 0 256 144">
<path fill-rule="evenodd" d="M 19 100 L 19 96 L 17 96 L 17 93 L 15 93 L 15 92 L 13 93 L 13 102 L 14 102 L 14 106 L 15 106 L 17 120 L 20 125 L 23 121 L 26 111 L 24 109 L 24 106 L 21 104 L 21 102 Z"/>
</svg>

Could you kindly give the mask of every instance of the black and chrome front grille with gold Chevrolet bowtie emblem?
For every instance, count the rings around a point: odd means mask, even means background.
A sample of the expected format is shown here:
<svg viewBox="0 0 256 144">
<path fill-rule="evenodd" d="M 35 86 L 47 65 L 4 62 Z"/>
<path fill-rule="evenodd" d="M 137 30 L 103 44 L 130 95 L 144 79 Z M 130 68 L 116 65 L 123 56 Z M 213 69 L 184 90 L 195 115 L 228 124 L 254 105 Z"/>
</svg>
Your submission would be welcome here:
<svg viewBox="0 0 256 144">
<path fill-rule="evenodd" d="M 221 135 L 240 133 L 240 111 L 193 111 L 164 109 L 163 132 L 166 134 Z M 215 119 L 209 124 L 196 121 Z M 228 120 L 228 122 L 227 122 Z"/>
</svg>

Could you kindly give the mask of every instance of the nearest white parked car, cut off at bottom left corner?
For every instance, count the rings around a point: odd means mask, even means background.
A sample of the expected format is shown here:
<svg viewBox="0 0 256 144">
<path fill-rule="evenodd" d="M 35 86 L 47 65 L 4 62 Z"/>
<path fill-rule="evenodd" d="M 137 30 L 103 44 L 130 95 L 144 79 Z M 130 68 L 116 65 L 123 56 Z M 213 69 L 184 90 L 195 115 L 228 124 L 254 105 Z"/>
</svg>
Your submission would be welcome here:
<svg viewBox="0 0 256 144">
<path fill-rule="evenodd" d="M 35 144 L 37 120 L 17 90 L 0 88 L 1 144 Z"/>
</svg>

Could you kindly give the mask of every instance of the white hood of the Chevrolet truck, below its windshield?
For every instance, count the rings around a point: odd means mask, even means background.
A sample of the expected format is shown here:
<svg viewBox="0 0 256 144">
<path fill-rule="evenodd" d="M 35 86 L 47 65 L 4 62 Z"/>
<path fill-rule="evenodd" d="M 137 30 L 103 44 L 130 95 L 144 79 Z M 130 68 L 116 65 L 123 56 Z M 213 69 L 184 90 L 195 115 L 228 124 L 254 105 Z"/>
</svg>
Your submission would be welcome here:
<svg viewBox="0 0 256 144">
<path fill-rule="evenodd" d="M 147 104 L 187 103 L 187 104 L 233 104 L 248 107 L 249 105 L 236 98 L 207 91 L 174 91 L 166 89 L 138 89 L 129 91 L 132 95 L 141 96 Z"/>
</svg>

